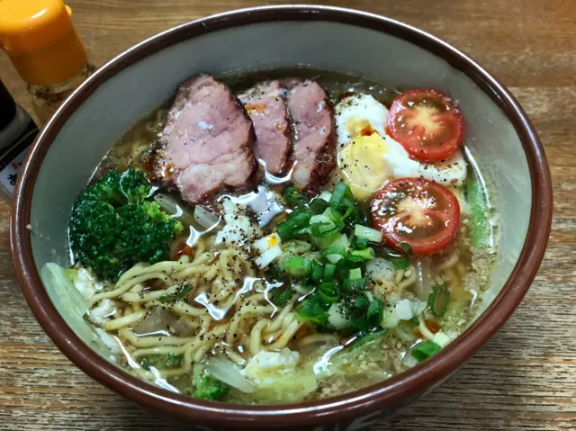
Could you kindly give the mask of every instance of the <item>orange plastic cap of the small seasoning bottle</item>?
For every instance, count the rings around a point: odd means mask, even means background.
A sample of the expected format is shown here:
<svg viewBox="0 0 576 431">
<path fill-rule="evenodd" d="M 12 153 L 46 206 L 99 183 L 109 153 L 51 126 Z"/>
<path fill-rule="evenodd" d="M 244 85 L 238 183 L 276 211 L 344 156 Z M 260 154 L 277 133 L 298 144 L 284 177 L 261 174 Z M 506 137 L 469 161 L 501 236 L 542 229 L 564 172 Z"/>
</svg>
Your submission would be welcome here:
<svg viewBox="0 0 576 431">
<path fill-rule="evenodd" d="M 62 84 L 84 69 L 71 14 L 62 0 L 0 0 L 0 47 L 24 81 Z"/>
</svg>

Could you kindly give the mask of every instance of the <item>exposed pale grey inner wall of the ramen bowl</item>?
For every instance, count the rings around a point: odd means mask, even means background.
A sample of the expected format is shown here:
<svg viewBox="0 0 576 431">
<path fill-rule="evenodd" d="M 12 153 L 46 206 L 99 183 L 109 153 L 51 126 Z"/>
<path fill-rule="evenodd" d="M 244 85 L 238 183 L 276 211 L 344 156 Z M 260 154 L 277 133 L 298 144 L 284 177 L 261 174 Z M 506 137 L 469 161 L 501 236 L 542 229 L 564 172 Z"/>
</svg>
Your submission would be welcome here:
<svg viewBox="0 0 576 431">
<path fill-rule="evenodd" d="M 150 51 L 154 47 L 150 44 Z M 268 22 L 210 32 L 150 52 L 99 85 L 59 130 L 40 167 L 30 221 L 39 272 L 49 262 L 69 263 L 67 220 L 77 194 L 112 142 L 174 94 L 176 85 L 200 72 L 219 76 L 295 66 L 367 76 L 384 85 L 434 87 L 458 101 L 466 121 L 465 142 L 497 208 L 506 214 L 500 220 L 499 263 L 486 294 L 488 304 L 509 278 L 527 237 L 532 188 L 516 130 L 491 97 L 443 58 L 410 41 L 340 22 Z M 68 326 L 110 358 L 81 318 L 85 310 L 76 306 L 71 292 L 43 275 L 49 297 Z"/>
</svg>

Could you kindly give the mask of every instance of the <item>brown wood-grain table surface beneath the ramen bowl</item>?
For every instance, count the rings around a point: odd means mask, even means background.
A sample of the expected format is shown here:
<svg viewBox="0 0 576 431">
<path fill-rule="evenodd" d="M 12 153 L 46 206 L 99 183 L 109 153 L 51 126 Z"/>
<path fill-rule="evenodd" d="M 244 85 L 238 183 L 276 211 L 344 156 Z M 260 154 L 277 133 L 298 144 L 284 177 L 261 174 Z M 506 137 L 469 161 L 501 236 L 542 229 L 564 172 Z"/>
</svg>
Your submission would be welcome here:
<svg viewBox="0 0 576 431">
<path fill-rule="evenodd" d="M 382 13 L 430 31 L 491 70 L 534 121 L 554 178 L 553 232 L 526 300 L 453 379 L 374 430 L 575 430 L 576 0 L 331 3 Z M 157 31 L 256 4 L 69 1 L 76 29 L 96 65 Z M 0 56 L 0 76 L 30 108 L 23 83 L 5 56 Z M 173 429 L 90 380 L 44 334 L 15 281 L 8 213 L 0 202 L 0 430 Z"/>
</svg>

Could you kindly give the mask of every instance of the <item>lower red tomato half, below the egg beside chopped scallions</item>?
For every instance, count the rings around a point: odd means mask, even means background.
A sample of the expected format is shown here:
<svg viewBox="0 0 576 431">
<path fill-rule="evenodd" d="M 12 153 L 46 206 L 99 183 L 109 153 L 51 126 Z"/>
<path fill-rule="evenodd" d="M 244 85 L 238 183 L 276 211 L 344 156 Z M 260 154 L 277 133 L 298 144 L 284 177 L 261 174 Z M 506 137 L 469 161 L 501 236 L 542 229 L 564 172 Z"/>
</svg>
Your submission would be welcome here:
<svg viewBox="0 0 576 431">
<path fill-rule="evenodd" d="M 390 247 L 407 243 L 414 254 L 430 255 L 446 247 L 460 226 L 460 204 L 444 185 L 424 178 L 386 184 L 372 202 L 374 227 Z"/>
</svg>

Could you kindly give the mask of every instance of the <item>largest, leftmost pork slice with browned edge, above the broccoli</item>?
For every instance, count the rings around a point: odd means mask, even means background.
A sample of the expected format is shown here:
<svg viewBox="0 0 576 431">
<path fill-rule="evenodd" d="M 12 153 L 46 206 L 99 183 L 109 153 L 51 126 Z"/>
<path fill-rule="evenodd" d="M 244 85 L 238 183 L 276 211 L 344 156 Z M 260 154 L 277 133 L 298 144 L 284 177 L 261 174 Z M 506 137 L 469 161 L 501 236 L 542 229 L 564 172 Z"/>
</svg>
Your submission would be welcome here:
<svg viewBox="0 0 576 431">
<path fill-rule="evenodd" d="M 178 87 L 156 152 L 155 174 L 184 201 L 244 189 L 257 171 L 252 121 L 229 88 L 209 75 Z"/>
</svg>

